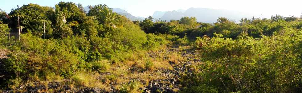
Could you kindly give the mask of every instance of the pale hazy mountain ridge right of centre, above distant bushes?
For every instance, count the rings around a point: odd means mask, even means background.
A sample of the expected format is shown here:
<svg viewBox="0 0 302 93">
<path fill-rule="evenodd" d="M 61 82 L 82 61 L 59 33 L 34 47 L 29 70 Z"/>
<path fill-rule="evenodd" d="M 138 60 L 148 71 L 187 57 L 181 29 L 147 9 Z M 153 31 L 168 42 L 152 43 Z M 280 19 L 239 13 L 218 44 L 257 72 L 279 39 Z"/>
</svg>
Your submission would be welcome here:
<svg viewBox="0 0 302 93">
<path fill-rule="evenodd" d="M 154 12 L 155 14 L 155 12 Z M 153 15 L 154 15 L 153 14 Z M 239 21 L 241 18 L 257 17 L 257 14 L 243 13 L 232 10 L 217 10 L 209 8 L 189 8 L 185 12 L 183 10 L 173 10 L 165 12 L 161 20 L 180 20 L 182 17 L 196 17 L 198 22 L 213 23 L 217 22 L 218 17 L 227 17 L 232 21 Z M 159 18 L 158 18 L 159 19 Z"/>
</svg>

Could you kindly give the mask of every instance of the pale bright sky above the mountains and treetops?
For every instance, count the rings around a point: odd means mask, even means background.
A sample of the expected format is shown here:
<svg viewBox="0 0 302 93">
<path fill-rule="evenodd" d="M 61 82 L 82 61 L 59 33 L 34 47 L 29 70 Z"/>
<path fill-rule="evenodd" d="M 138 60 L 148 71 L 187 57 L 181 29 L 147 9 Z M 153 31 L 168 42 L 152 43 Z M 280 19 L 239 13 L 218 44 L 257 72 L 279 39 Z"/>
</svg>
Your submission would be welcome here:
<svg viewBox="0 0 302 93">
<path fill-rule="evenodd" d="M 28 3 L 54 6 L 60 1 L 80 3 L 83 6 L 106 4 L 110 8 L 127 10 L 134 16 L 152 16 L 154 11 L 171 11 L 190 7 L 236 10 L 255 14 L 279 14 L 285 17 L 300 17 L 302 0 L 0 0 L 0 9 L 10 9 Z"/>
</svg>

